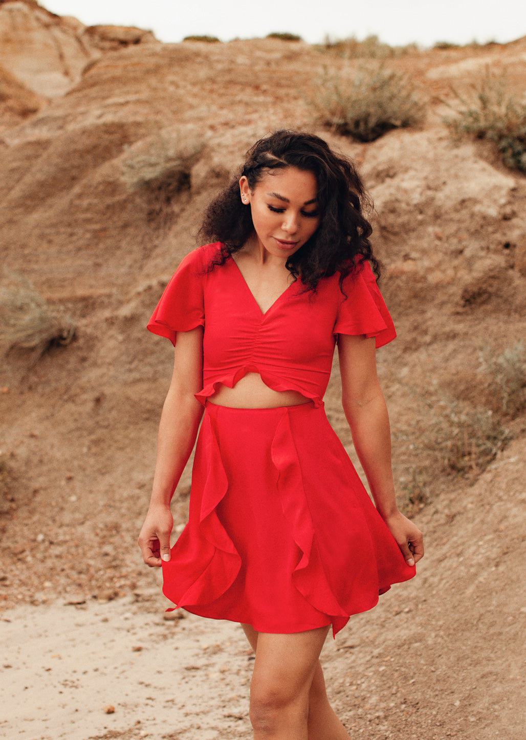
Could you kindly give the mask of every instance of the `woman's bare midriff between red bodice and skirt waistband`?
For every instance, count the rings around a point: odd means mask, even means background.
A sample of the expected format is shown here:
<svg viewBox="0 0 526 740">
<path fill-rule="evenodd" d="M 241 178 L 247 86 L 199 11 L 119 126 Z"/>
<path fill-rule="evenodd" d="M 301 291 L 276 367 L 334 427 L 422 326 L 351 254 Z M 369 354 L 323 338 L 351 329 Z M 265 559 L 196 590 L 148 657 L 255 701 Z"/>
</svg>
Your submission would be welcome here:
<svg viewBox="0 0 526 740">
<path fill-rule="evenodd" d="M 260 374 L 249 372 L 237 381 L 234 388 L 219 386 L 207 403 L 229 408 L 277 408 L 277 406 L 299 406 L 308 403 L 298 391 L 274 391 L 261 380 Z"/>
</svg>

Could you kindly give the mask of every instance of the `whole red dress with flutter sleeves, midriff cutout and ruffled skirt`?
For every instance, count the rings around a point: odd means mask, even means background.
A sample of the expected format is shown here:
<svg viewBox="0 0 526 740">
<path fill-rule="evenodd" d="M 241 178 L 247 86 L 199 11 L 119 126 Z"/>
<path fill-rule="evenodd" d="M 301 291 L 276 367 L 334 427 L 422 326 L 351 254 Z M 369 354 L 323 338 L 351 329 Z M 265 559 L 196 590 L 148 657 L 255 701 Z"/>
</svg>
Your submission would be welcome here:
<svg viewBox="0 0 526 740">
<path fill-rule="evenodd" d="M 189 522 L 163 563 L 163 592 L 192 613 L 263 632 L 332 624 L 373 607 L 414 576 L 328 423 L 323 394 L 337 334 L 396 336 L 370 266 L 297 280 L 263 314 L 232 258 L 209 271 L 218 243 L 190 252 L 148 329 L 175 343 L 203 326 L 205 405 Z M 257 372 L 311 403 L 240 409 L 206 403 L 220 383 Z"/>
</svg>

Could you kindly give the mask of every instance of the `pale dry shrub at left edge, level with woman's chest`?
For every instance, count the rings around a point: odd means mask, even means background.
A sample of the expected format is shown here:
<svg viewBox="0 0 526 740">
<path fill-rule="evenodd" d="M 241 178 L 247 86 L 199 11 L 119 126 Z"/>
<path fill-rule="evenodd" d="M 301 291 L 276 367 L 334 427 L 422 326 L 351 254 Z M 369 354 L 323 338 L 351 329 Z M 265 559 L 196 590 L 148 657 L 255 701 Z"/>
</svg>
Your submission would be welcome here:
<svg viewBox="0 0 526 740">
<path fill-rule="evenodd" d="M 41 354 L 51 346 L 69 344 L 75 335 L 73 321 L 38 295 L 17 275 L 6 275 L 0 286 L 0 347 L 34 349 Z"/>
</svg>

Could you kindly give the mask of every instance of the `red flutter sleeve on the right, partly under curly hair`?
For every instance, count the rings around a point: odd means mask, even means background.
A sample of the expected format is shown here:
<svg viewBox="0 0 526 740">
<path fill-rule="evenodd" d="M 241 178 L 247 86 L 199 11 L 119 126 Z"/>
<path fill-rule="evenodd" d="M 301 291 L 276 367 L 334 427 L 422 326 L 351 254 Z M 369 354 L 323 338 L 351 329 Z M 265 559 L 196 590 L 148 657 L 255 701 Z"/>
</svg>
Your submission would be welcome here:
<svg viewBox="0 0 526 740">
<path fill-rule="evenodd" d="M 351 272 L 345 277 L 343 291 L 345 295 L 340 295 L 334 334 L 375 337 L 377 347 L 382 347 L 397 336 L 391 314 L 368 262 L 363 263 L 360 272 Z"/>
</svg>

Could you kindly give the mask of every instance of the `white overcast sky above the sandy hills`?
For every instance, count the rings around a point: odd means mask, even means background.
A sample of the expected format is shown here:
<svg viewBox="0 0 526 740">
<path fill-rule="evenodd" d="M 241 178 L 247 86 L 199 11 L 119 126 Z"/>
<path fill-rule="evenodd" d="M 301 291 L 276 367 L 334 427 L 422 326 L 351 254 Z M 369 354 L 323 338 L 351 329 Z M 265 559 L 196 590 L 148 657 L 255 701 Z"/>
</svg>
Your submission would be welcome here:
<svg viewBox="0 0 526 740">
<path fill-rule="evenodd" d="M 133 25 L 161 41 L 222 41 L 289 31 L 311 43 L 374 34 L 391 45 L 513 41 L 526 36 L 524 0 L 40 0 L 84 24 Z"/>
</svg>

